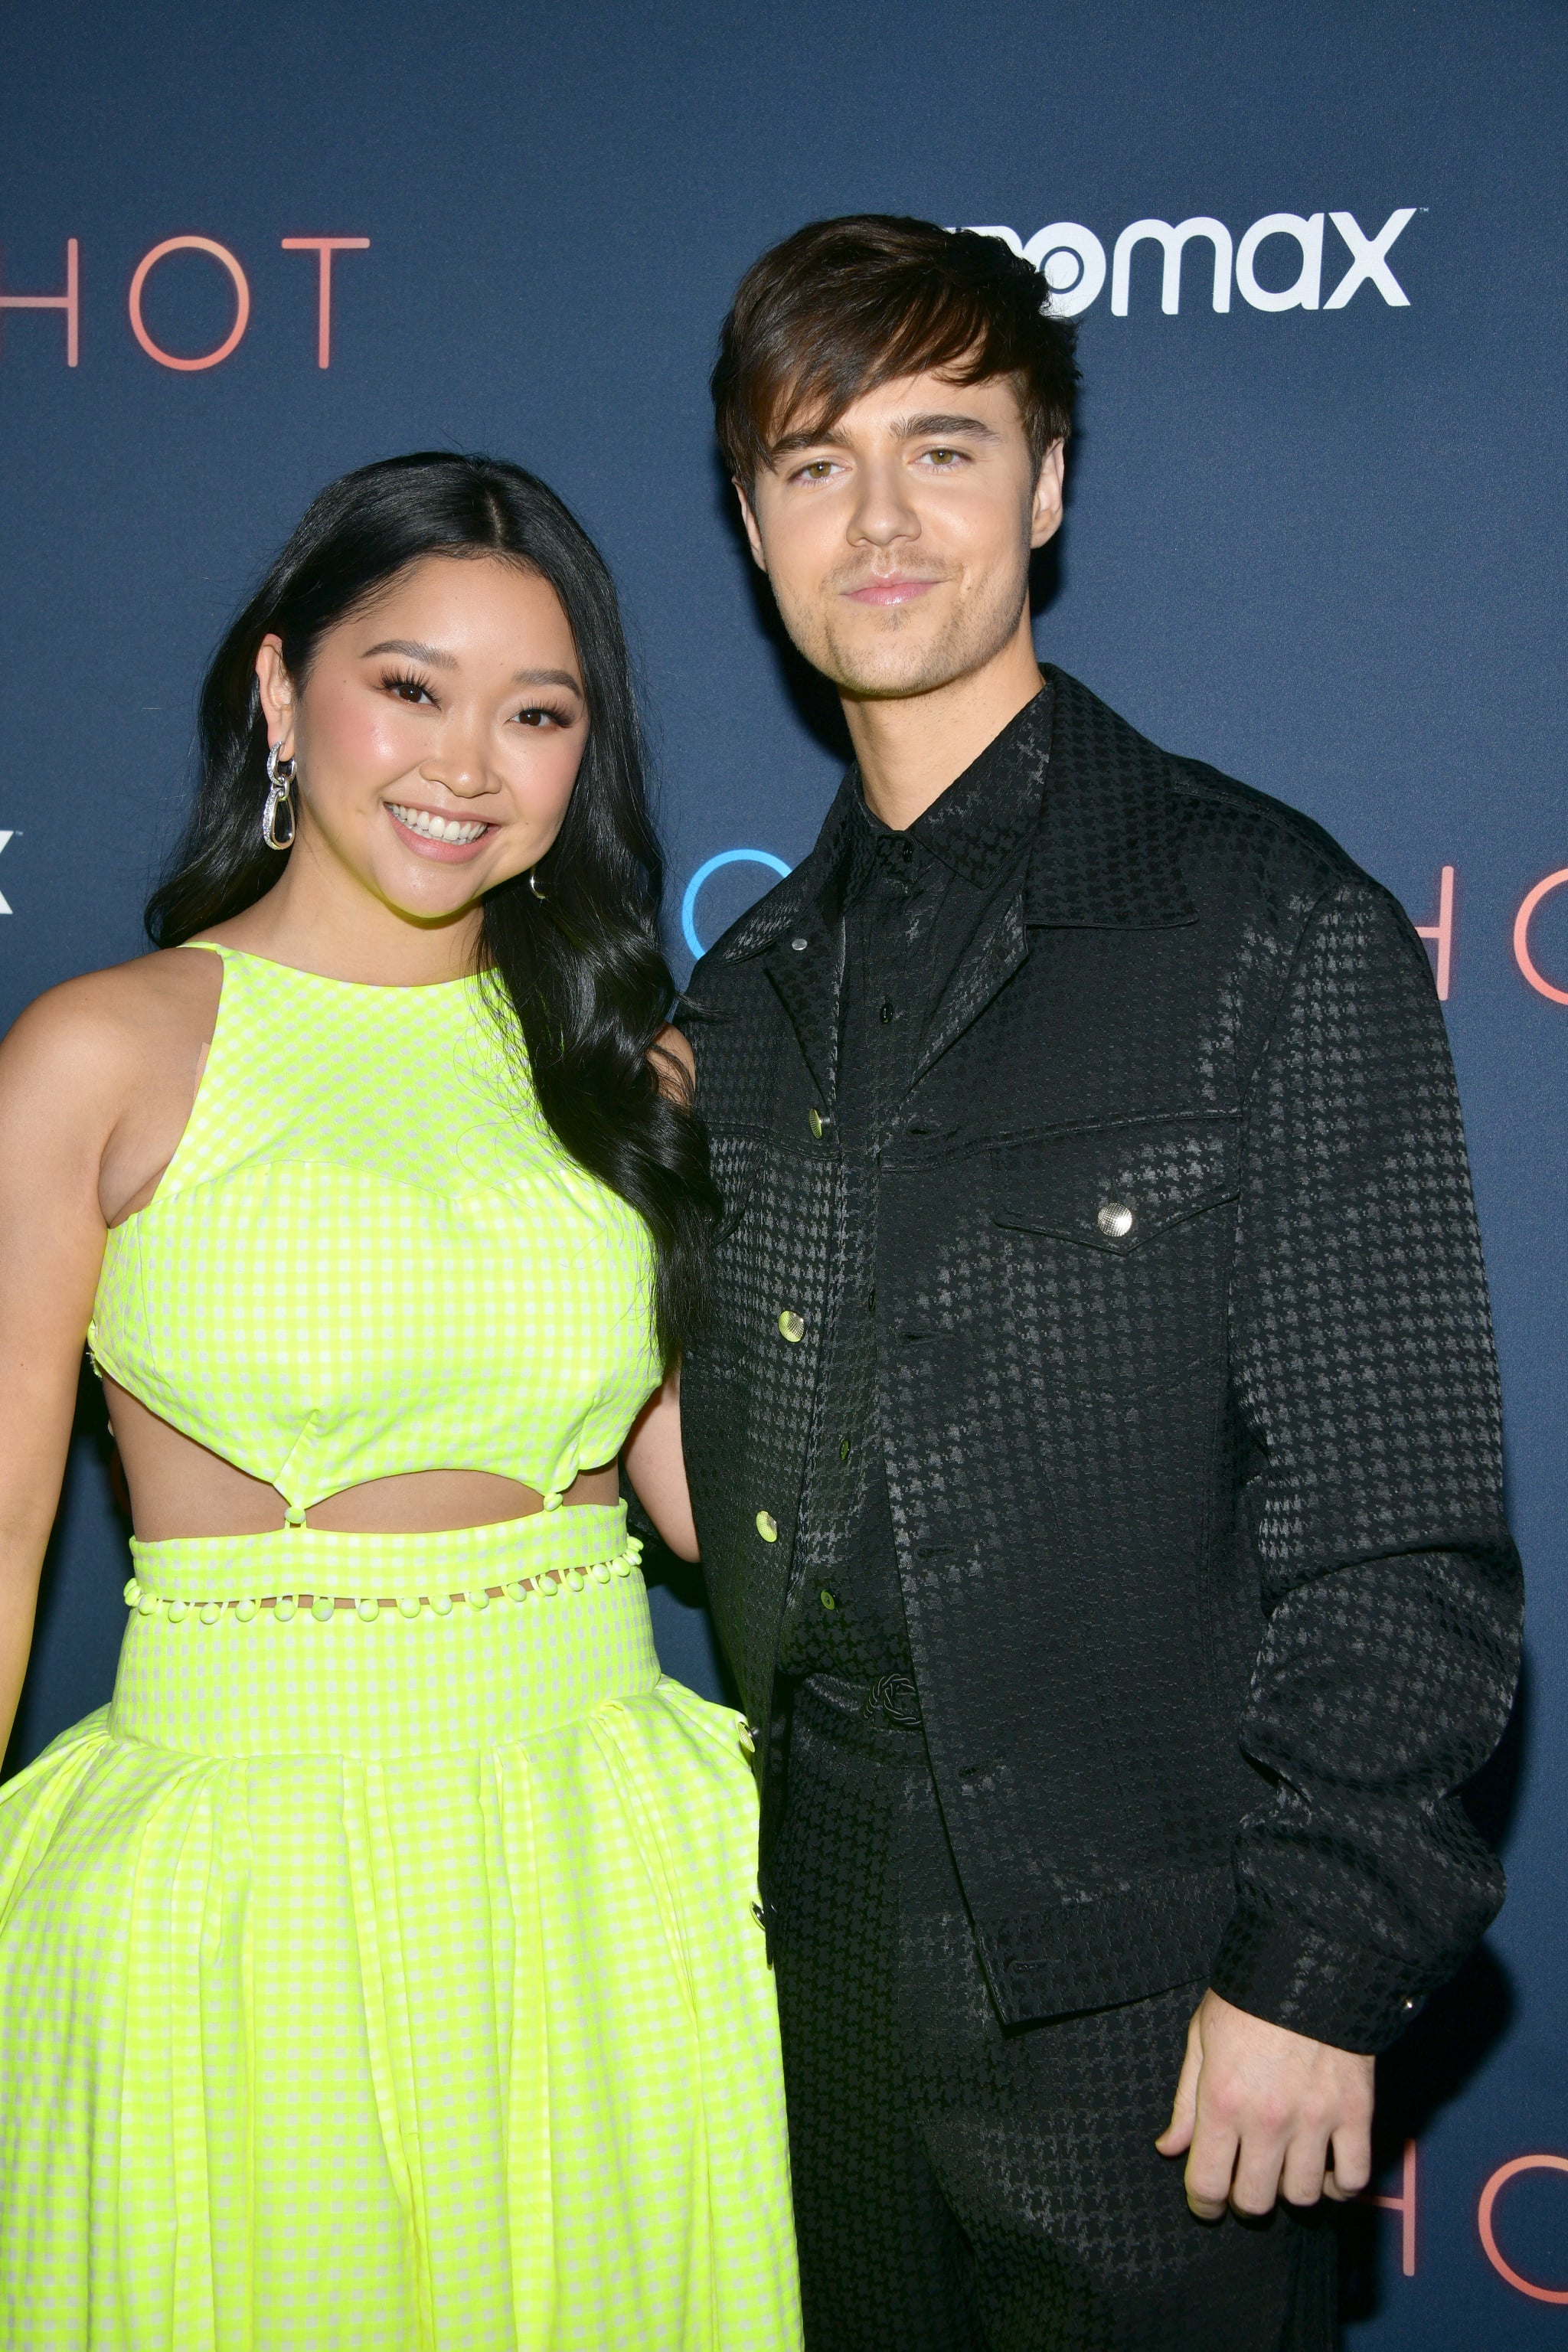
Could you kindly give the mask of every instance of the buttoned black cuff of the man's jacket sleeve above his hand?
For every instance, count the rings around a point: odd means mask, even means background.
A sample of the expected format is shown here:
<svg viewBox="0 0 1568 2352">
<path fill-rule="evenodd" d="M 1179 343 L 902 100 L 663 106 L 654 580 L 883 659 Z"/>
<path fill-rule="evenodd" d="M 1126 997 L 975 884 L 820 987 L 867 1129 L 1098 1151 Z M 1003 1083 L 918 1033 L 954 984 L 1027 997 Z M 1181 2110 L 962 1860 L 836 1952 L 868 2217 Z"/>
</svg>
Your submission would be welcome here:
<svg viewBox="0 0 1568 2352">
<path fill-rule="evenodd" d="M 1229 1917 L 1208 1985 L 1269 2025 L 1366 2058 L 1399 2042 L 1432 1990 L 1408 1959 L 1246 1900 Z"/>
</svg>

